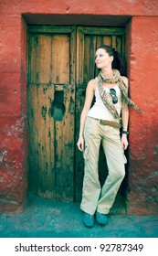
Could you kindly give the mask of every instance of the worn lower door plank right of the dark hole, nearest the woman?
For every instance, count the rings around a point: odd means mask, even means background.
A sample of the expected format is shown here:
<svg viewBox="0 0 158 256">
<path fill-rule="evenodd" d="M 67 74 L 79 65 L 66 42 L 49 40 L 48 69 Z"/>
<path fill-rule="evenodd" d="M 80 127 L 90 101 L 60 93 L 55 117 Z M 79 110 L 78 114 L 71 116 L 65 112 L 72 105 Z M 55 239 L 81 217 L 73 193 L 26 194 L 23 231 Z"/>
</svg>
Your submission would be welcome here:
<svg viewBox="0 0 158 256">
<path fill-rule="evenodd" d="M 62 122 L 56 122 L 57 199 L 74 199 L 74 101 L 71 85 L 64 87 L 66 112 Z"/>
</svg>

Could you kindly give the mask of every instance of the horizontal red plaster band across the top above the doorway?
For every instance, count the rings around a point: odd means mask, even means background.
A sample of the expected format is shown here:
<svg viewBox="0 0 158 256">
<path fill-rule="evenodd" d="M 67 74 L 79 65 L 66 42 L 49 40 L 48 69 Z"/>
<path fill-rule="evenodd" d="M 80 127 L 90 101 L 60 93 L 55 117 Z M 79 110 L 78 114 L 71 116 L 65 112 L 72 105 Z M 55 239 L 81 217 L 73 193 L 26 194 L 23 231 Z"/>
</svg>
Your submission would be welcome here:
<svg viewBox="0 0 158 256">
<path fill-rule="evenodd" d="M 1 0 L 4 12 L 156 16 L 157 0 Z"/>
</svg>

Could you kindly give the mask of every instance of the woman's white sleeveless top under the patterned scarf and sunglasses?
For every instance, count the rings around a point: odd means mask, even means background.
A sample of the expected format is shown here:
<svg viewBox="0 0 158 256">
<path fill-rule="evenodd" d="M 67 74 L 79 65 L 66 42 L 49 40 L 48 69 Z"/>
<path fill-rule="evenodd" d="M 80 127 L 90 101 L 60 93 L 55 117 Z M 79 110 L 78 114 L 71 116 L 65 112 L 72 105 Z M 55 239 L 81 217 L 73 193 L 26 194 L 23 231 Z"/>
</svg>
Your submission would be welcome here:
<svg viewBox="0 0 158 256">
<path fill-rule="evenodd" d="M 114 106 L 120 115 L 121 114 L 121 91 L 120 91 L 120 88 L 118 85 L 115 85 L 112 88 L 115 89 L 116 95 L 118 97 L 118 102 L 116 104 L 114 104 Z M 110 93 L 109 88 L 104 87 L 104 90 L 106 92 Z M 88 116 L 97 118 L 97 119 L 101 119 L 101 120 L 118 122 L 118 120 L 116 118 L 114 118 L 112 113 L 108 110 L 108 108 L 104 105 L 103 101 L 101 100 L 98 86 L 96 87 L 95 97 L 96 97 L 95 103 L 92 106 L 92 108 L 90 109 L 90 111 L 88 112 Z M 111 99 L 111 101 L 112 101 L 112 99 Z"/>
</svg>

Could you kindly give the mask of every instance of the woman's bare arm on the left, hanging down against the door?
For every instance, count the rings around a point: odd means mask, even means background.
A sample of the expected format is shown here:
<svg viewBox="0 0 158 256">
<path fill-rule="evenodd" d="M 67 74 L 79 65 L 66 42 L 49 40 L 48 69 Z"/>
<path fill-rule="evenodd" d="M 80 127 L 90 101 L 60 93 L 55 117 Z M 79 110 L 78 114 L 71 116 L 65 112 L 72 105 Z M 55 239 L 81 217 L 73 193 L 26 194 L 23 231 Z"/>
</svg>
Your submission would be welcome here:
<svg viewBox="0 0 158 256">
<path fill-rule="evenodd" d="M 90 110 L 91 102 L 93 100 L 95 87 L 96 87 L 96 81 L 90 80 L 86 89 L 86 98 L 84 102 L 84 107 L 80 115 L 79 141 L 77 143 L 80 151 L 84 151 L 84 137 L 83 137 L 84 124 L 85 124 L 87 114 Z"/>
</svg>

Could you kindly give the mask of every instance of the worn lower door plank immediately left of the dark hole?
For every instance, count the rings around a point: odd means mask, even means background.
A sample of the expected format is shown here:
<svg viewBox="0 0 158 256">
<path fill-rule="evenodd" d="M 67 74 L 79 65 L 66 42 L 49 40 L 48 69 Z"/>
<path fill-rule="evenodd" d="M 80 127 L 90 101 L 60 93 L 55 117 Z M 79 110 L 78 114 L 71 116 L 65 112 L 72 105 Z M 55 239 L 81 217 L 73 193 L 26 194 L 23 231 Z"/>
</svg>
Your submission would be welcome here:
<svg viewBox="0 0 158 256">
<path fill-rule="evenodd" d="M 49 114 L 53 86 L 38 87 L 38 166 L 39 195 L 53 197 L 56 194 L 55 154 L 54 154 L 54 121 Z M 53 95 L 53 94 L 52 94 Z"/>
</svg>

